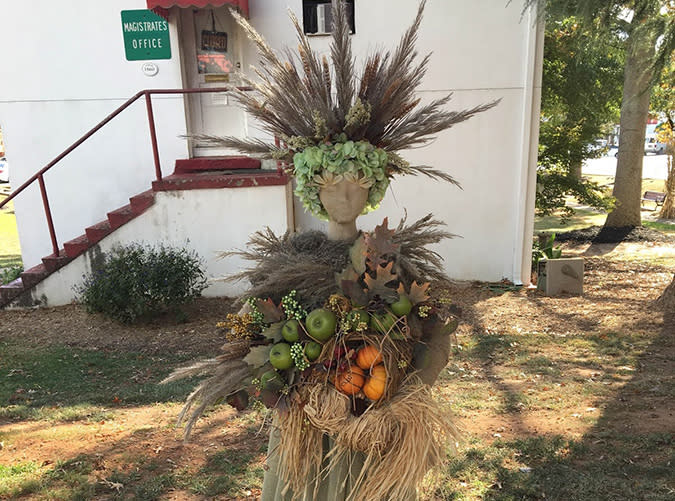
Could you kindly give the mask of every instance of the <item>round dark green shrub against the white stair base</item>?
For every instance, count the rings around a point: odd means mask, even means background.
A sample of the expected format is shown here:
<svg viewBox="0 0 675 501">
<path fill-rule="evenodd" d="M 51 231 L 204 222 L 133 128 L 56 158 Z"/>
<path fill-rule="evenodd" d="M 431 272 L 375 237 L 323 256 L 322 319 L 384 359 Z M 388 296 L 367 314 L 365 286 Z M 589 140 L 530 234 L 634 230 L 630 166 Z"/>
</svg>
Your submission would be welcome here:
<svg viewBox="0 0 675 501">
<path fill-rule="evenodd" d="M 77 292 L 87 311 L 125 323 L 180 307 L 206 287 L 202 262 L 194 251 L 132 244 L 117 247 L 84 277 Z"/>
</svg>

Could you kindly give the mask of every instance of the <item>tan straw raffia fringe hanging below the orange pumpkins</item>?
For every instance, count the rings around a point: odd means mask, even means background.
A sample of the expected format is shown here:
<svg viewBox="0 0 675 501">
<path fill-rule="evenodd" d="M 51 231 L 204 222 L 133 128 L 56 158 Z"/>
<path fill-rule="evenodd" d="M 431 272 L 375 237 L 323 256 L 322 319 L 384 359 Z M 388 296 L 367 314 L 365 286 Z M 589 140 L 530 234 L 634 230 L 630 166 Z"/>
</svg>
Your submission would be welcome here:
<svg viewBox="0 0 675 501">
<path fill-rule="evenodd" d="M 424 475 L 440 465 L 457 430 L 447 411 L 433 399 L 431 388 L 414 378 L 404 383 L 385 405 L 371 407 L 359 417 L 350 414 L 351 400 L 331 386 L 316 384 L 300 391 L 306 402 L 281 418 L 279 475 L 295 496 L 317 473 L 326 475 L 353 451 L 365 455 L 364 466 L 347 499 L 376 501 L 406 499 Z M 308 426 L 307 422 L 311 423 Z M 323 433 L 334 445 L 321 467 Z"/>
</svg>

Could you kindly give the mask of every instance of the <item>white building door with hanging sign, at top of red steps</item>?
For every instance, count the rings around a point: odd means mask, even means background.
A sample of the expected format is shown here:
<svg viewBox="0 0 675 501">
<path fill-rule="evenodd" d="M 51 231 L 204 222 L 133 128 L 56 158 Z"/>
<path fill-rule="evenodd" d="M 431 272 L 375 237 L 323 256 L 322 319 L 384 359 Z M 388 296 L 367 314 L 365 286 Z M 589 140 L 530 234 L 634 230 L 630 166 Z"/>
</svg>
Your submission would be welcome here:
<svg viewBox="0 0 675 501">
<path fill-rule="evenodd" d="M 180 9 L 184 82 L 187 88 L 240 85 L 236 73 L 243 66 L 242 37 L 228 7 Z M 188 132 L 244 137 L 246 114 L 229 93 L 190 94 Z M 234 154 L 223 148 L 191 141 L 193 157 Z"/>
</svg>

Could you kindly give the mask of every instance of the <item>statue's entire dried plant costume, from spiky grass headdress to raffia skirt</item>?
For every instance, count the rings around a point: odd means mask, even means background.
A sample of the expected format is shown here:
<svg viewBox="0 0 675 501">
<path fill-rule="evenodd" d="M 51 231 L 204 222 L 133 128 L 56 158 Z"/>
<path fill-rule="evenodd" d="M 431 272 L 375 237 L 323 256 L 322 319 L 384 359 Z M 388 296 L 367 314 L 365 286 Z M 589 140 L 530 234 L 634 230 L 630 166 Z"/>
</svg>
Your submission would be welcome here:
<svg viewBox="0 0 675 501">
<path fill-rule="evenodd" d="M 453 112 L 444 109 L 450 96 L 421 104 L 415 91 L 429 56 L 418 62 L 415 42 L 424 5 L 396 49 L 368 57 L 359 75 L 342 0 L 333 0 L 330 58 L 311 49 L 293 15 L 298 52 L 286 49 L 283 60 L 238 16 L 261 58 L 259 80 L 247 80 L 255 92 L 240 91 L 238 99 L 281 142 L 199 139 L 284 162 L 304 206 L 330 222 L 336 218 L 321 195 L 343 182 L 367 192 L 352 223 L 362 208 L 379 204 L 396 175 L 457 184 L 399 152 L 497 102 Z M 179 416 L 186 437 L 208 405 L 225 398 L 241 409 L 252 396 L 279 416 L 280 441 L 270 452 L 279 458 L 284 499 L 316 498 L 330 471 L 351 464 L 355 451 L 362 468 L 344 484 L 346 499 L 407 498 L 455 436 L 430 389 L 457 327 L 451 306 L 430 294 L 432 281 L 446 280 L 440 255 L 428 248 L 453 236 L 441 226 L 430 215 L 396 229 L 385 219 L 356 240 L 334 238 L 330 227 L 328 237 L 278 237 L 268 229 L 247 250 L 230 253 L 253 266 L 231 277 L 247 279 L 251 289 L 239 313 L 220 324 L 228 342 L 218 357 L 166 380 L 207 376 Z M 317 447 L 326 436 L 329 449 Z"/>
</svg>

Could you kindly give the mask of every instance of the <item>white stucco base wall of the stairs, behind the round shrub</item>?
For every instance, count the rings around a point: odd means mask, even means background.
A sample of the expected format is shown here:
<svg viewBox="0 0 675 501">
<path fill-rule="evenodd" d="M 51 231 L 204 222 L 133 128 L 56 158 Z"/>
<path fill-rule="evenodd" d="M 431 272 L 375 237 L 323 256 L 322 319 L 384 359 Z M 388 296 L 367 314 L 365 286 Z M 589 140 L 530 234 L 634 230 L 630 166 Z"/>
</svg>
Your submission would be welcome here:
<svg viewBox="0 0 675 501">
<path fill-rule="evenodd" d="M 274 212 L 260 210 L 261 200 L 273 204 Z M 288 229 L 292 210 L 287 186 L 166 191 L 155 195 L 155 204 L 146 212 L 105 237 L 31 290 L 31 301 L 21 298 L 15 304 L 58 306 L 75 300 L 75 289 L 92 264 L 116 246 L 131 243 L 186 247 L 196 251 L 204 262 L 208 287 L 204 296 L 237 296 L 249 286 L 245 281 L 224 282 L 250 266 L 239 257 L 221 259 L 223 252 L 244 249 L 251 234 L 269 226 L 276 234 Z M 242 215 L 246 217 L 241 217 Z M 205 230 L 208 228 L 208 230 Z"/>
</svg>

